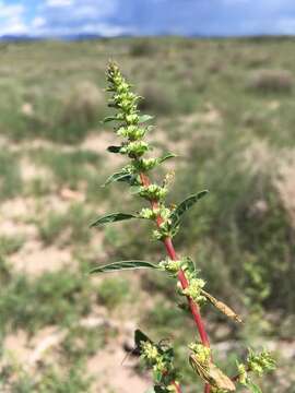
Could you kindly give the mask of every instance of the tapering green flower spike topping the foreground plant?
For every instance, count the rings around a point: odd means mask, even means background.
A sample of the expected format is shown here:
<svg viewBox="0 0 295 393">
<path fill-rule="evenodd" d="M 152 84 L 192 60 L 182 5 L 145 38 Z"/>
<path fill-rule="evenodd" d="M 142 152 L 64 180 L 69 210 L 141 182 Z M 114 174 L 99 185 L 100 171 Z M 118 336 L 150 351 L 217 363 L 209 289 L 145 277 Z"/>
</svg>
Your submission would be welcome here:
<svg viewBox="0 0 295 393">
<path fill-rule="evenodd" d="M 141 181 L 140 175 L 155 168 L 175 155 L 168 153 L 161 158 L 143 157 L 143 155 L 151 150 L 150 144 L 143 141 L 144 135 L 152 128 L 151 126 L 144 126 L 151 117 L 148 115 L 139 115 L 138 102 L 141 97 L 131 92 L 131 86 L 126 82 L 119 68 L 115 63 L 110 63 L 107 69 L 107 81 L 109 83 L 107 91 L 113 93 L 108 105 L 116 108 L 118 112 L 114 117 L 106 118 L 105 122 L 118 121 L 119 126 L 115 127 L 115 132 L 118 136 L 125 139 L 120 146 L 110 146 L 108 150 L 111 153 L 128 155 L 129 158 L 131 158 L 130 164 L 119 172 L 119 175 L 122 174 L 122 176 L 115 174 L 110 179 L 111 181 L 127 181 L 131 186 L 139 186 L 135 191 L 133 190 L 134 193 L 150 202 L 156 202 L 158 204 L 157 207 L 153 207 L 152 210 L 143 209 L 139 216 L 153 221 L 161 217 L 162 223 L 158 228 L 154 230 L 153 237 L 157 240 L 163 240 L 174 235 L 169 221 L 172 212 L 164 204 L 164 200 L 168 193 L 167 179 L 170 179 L 170 176 L 165 177 L 163 184 L 160 186 L 156 183 L 144 183 Z M 123 176 L 125 174 L 130 175 L 130 177 Z M 111 181 L 108 181 L 108 183 Z"/>
</svg>

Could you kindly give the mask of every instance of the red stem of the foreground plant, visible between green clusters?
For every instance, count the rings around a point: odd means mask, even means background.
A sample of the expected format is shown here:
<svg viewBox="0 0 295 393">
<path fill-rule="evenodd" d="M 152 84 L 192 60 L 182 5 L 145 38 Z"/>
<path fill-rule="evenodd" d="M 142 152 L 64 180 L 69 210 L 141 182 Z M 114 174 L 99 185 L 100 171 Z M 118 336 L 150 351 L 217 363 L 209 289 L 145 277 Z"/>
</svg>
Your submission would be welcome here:
<svg viewBox="0 0 295 393">
<path fill-rule="evenodd" d="M 141 182 L 143 186 L 145 186 L 145 187 L 150 186 L 151 182 L 146 175 L 140 174 L 140 178 L 141 178 Z M 153 210 L 158 207 L 158 203 L 156 201 L 151 201 L 151 204 L 152 204 Z M 156 217 L 157 226 L 160 227 L 160 225 L 162 223 L 163 223 L 163 218 L 161 216 L 157 216 Z M 177 254 L 176 254 L 172 238 L 169 238 L 169 237 L 166 238 L 164 240 L 164 245 L 165 245 L 165 248 L 166 248 L 166 251 L 167 251 L 167 254 L 169 255 L 169 258 L 174 261 L 177 261 Z M 182 289 L 186 289 L 189 286 L 189 283 L 187 281 L 186 274 L 182 271 L 182 269 L 180 269 L 178 272 L 178 279 L 181 284 Z M 202 320 L 202 317 L 200 313 L 200 308 L 199 308 L 198 303 L 192 300 L 191 297 L 187 296 L 187 299 L 188 299 L 188 303 L 189 303 L 189 308 L 190 308 L 190 312 L 192 314 L 193 321 L 199 331 L 201 342 L 204 346 L 210 348 L 210 341 L 209 341 L 209 337 L 208 337 L 208 334 L 206 334 L 206 331 L 204 327 L 204 323 L 203 323 L 203 320 Z M 178 392 L 181 392 L 180 388 L 179 386 L 177 388 L 176 383 L 175 383 L 175 386 L 176 386 L 176 389 L 178 389 Z M 208 383 L 204 385 L 204 393 L 210 393 L 210 384 L 208 384 Z"/>
</svg>

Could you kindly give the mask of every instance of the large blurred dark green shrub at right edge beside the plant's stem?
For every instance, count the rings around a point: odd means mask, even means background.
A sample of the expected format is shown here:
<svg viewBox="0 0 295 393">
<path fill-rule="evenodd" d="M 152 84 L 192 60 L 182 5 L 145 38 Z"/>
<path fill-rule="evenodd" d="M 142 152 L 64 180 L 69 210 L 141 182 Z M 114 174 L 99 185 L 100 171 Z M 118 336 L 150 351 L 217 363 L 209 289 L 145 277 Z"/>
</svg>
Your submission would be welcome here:
<svg viewBox="0 0 295 393">
<path fill-rule="evenodd" d="M 190 168 L 177 184 L 179 194 L 202 187 L 206 179 L 214 195 L 204 201 L 202 211 L 187 217 L 179 241 L 193 247 L 194 239 L 200 240 L 194 258 L 212 290 L 223 298 L 235 291 L 237 301 L 246 294 L 247 302 L 294 312 L 291 224 L 272 186 L 271 168 L 253 174 L 238 148 L 228 155 L 223 146 L 220 156 L 204 156 L 202 165 L 193 158 L 196 152 L 191 156 Z M 233 285 L 221 286 L 220 279 Z"/>
</svg>

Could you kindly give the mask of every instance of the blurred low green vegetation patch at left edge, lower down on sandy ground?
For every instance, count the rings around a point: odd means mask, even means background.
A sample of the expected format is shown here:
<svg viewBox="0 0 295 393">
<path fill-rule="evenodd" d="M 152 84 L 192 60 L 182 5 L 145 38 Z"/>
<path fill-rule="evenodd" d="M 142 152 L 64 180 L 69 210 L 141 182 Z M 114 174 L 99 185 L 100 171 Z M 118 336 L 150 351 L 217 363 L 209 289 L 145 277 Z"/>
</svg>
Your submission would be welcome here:
<svg viewBox="0 0 295 393">
<path fill-rule="evenodd" d="M 10 276 L 1 289 L 1 331 L 33 333 L 46 325 L 70 325 L 90 312 L 90 290 L 80 274 L 67 270 L 36 279 Z"/>
</svg>

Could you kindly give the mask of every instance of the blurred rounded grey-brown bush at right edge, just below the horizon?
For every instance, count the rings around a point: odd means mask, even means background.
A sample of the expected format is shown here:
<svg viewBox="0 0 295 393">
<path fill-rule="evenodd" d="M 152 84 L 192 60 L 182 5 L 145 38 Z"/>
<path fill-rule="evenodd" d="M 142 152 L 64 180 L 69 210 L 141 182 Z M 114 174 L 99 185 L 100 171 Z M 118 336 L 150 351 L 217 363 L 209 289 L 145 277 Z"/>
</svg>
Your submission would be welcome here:
<svg viewBox="0 0 295 393">
<path fill-rule="evenodd" d="M 261 93 L 290 93 L 293 85 L 293 74 L 287 70 L 257 70 L 248 79 L 248 87 Z"/>
</svg>

